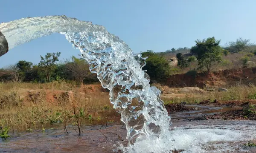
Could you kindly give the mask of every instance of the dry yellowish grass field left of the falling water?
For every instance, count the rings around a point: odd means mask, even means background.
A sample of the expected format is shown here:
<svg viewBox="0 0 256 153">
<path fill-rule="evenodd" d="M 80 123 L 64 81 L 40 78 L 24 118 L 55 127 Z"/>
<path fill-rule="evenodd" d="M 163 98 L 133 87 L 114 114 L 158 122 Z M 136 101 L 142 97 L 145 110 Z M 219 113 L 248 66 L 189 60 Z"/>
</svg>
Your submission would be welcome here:
<svg viewBox="0 0 256 153">
<path fill-rule="evenodd" d="M 84 120 L 118 116 L 100 85 L 83 88 L 66 82 L 0 84 L 0 127 L 44 129 L 52 123 L 80 127 Z M 67 92 L 72 91 L 72 92 Z"/>
</svg>

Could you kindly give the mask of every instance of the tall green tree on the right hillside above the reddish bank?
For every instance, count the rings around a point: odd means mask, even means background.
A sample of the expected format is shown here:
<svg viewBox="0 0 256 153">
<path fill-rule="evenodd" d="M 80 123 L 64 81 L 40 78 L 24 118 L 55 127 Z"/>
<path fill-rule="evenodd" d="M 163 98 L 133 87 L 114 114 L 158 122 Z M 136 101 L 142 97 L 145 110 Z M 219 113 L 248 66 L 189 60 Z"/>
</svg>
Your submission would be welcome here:
<svg viewBox="0 0 256 153">
<path fill-rule="evenodd" d="M 206 68 L 209 73 L 221 62 L 222 48 L 219 45 L 220 40 L 209 37 L 202 41 L 196 40 L 195 42 L 196 45 L 191 48 L 191 52 L 198 56 L 198 68 Z"/>
</svg>

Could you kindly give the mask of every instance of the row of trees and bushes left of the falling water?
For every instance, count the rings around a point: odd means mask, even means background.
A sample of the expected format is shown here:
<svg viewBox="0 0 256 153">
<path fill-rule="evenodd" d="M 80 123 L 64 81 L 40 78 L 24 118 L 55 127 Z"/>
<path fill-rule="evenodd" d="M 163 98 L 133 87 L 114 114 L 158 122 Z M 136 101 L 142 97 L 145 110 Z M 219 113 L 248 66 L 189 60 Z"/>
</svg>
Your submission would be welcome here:
<svg viewBox="0 0 256 153">
<path fill-rule="evenodd" d="M 23 82 L 52 82 L 53 80 L 74 80 L 83 83 L 97 82 L 96 74 L 89 70 L 87 61 L 83 58 L 71 57 L 61 63 L 59 57 L 61 52 L 47 53 L 38 64 L 20 60 L 9 68 L 0 69 L 0 79 L 2 81 L 21 80 Z"/>
</svg>

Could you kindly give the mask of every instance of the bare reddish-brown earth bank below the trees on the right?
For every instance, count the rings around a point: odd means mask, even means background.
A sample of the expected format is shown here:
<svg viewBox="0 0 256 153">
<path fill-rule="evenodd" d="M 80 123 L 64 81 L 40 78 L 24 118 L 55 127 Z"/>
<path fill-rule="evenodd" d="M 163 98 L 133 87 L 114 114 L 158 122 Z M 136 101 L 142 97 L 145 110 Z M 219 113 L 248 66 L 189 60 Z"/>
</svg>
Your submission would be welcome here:
<svg viewBox="0 0 256 153">
<path fill-rule="evenodd" d="M 175 74 L 166 79 L 163 84 L 171 88 L 183 87 L 211 87 L 232 86 L 237 82 L 256 85 L 256 68 L 240 68 L 232 70 L 215 71 L 207 75 L 202 73 Z"/>
</svg>

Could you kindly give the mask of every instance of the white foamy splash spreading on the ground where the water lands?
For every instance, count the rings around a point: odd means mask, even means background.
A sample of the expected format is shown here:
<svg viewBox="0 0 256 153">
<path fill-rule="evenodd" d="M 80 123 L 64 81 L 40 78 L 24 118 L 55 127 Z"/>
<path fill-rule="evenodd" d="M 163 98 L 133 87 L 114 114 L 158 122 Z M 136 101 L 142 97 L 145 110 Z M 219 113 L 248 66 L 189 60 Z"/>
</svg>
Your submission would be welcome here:
<svg viewBox="0 0 256 153">
<path fill-rule="evenodd" d="M 244 127 L 242 130 L 236 128 Z M 224 128 L 224 129 L 223 129 Z M 253 127 L 242 125 L 187 125 L 177 127 L 160 139 L 142 140 L 133 146 L 122 147 L 129 153 L 168 153 L 169 150 L 185 150 L 183 153 L 229 153 L 238 152 L 234 142 L 249 141 L 256 138 Z M 175 139 L 175 141 L 172 141 Z M 229 142 L 232 142 L 231 144 Z M 240 151 L 244 152 L 242 148 Z"/>
</svg>

